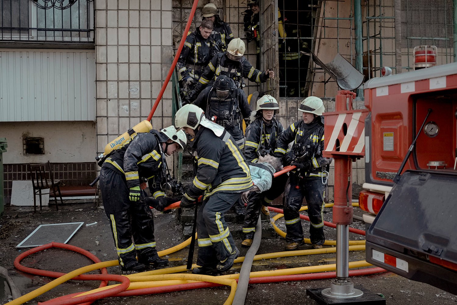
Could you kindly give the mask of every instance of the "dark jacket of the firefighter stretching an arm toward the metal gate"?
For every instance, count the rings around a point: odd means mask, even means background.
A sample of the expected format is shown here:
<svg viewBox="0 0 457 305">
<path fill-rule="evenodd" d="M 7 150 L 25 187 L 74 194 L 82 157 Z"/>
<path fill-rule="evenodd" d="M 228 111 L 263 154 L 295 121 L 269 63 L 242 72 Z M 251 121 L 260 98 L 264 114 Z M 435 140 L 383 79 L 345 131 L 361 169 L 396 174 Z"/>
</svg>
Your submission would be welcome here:
<svg viewBox="0 0 457 305">
<path fill-rule="evenodd" d="M 269 77 L 265 72 L 255 69 L 244 56 L 240 61 L 234 61 L 228 59 L 227 55 L 221 52 L 213 56 L 202 76 L 200 76 L 194 92 L 191 92 L 191 96 L 197 96 L 211 80 L 216 80 L 219 75 L 227 75 L 235 83 L 241 83 L 241 77 L 256 83 L 264 83 Z"/>
</svg>

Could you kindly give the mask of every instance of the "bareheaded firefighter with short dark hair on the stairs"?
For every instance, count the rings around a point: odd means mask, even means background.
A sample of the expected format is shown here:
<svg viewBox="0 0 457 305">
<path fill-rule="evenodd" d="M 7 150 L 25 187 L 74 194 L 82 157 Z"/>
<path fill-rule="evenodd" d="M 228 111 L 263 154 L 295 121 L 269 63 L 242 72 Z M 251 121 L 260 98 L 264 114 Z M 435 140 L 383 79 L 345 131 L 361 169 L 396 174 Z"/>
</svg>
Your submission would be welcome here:
<svg viewBox="0 0 457 305">
<path fill-rule="evenodd" d="M 186 37 L 181 55 L 176 63 L 184 96 L 199 80 L 213 55 L 218 52 L 213 37 L 211 37 L 213 28 L 211 20 L 203 20 L 200 27 Z"/>
</svg>

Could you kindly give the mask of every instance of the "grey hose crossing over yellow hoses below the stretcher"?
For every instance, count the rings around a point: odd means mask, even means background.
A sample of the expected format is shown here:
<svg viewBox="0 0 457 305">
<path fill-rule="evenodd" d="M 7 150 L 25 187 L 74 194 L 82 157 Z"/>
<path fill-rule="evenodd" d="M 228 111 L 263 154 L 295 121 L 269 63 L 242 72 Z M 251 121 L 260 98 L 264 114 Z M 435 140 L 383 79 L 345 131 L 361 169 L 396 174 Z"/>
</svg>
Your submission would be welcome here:
<svg viewBox="0 0 457 305">
<path fill-rule="evenodd" d="M 249 285 L 249 274 L 251 273 L 252 262 L 254 261 L 255 253 L 259 250 L 260 240 L 262 239 L 262 222 L 257 221 L 255 225 L 254 240 L 250 246 L 246 256 L 244 257 L 243 265 L 239 272 L 238 285 L 236 287 L 235 297 L 232 305 L 244 305 L 244 300 L 246 299 L 246 293 L 248 291 Z"/>
</svg>

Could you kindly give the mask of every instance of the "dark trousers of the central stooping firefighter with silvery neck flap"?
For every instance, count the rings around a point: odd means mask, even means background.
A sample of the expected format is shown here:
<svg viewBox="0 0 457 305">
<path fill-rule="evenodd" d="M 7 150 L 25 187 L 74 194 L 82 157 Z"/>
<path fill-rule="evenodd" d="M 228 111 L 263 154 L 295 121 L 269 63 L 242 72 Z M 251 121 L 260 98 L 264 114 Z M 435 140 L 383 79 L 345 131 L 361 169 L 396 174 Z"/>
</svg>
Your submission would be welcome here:
<svg viewBox="0 0 457 305">
<path fill-rule="evenodd" d="M 215 193 L 203 201 L 197 213 L 198 266 L 216 267 L 235 251 L 224 213 L 241 197 L 241 193 Z"/>
</svg>

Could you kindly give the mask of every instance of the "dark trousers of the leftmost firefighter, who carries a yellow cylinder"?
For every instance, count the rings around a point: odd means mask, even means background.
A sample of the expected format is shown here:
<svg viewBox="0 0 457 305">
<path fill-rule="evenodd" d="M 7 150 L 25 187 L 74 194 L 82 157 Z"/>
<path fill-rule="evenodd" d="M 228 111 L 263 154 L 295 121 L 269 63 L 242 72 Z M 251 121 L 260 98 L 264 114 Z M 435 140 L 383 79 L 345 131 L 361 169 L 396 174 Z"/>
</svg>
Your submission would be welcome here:
<svg viewBox="0 0 457 305">
<path fill-rule="evenodd" d="M 108 167 L 101 168 L 100 190 L 120 265 L 132 263 L 137 254 L 139 261 L 159 258 L 155 249 L 154 216 L 143 201 L 143 193 L 138 202 L 131 202 L 125 176 Z"/>
</svg>

